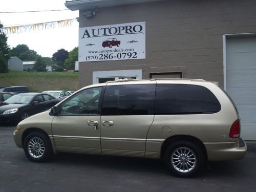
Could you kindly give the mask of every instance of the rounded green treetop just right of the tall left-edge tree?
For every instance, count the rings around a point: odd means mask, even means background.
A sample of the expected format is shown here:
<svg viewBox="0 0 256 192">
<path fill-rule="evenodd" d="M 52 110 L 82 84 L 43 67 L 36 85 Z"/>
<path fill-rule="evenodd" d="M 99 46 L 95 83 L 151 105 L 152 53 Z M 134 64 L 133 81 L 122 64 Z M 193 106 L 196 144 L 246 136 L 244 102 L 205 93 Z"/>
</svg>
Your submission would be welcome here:
<svg viewBox="0 0 256 192">
<path fill-rule="evenodd" d="M 10 51 L 10 55 L 13 57 L 18 57 L 23 61 L 33 61 L 36 60 L 38 54 L 34 50 L 30 50 L 27 45 L 17 45 L 12 48 Z"/>
</svg>

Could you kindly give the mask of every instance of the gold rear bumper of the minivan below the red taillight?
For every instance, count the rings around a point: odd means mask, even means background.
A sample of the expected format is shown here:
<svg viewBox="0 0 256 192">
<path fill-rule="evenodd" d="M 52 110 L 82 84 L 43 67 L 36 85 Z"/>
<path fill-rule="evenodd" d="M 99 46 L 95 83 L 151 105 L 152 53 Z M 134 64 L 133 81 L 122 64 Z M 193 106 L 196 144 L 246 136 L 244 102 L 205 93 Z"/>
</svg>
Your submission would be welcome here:
<svg viewBox="0 0 256 192">
<path fill-rule="evenodd" d="M 242 138 L 237 142 L 204 143 L 208 161 L 230 161 L 242 159 L 247 151 L 247 145 Z"/>
</svg>

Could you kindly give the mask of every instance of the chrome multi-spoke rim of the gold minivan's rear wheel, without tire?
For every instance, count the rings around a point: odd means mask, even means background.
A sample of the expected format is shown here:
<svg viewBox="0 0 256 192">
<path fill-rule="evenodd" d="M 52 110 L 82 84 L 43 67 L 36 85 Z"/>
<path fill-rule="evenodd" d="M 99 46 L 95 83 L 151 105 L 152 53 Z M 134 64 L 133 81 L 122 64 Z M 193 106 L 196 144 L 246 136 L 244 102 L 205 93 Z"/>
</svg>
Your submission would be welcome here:
<svg viewBox="0 0 256 192">
<path fill-rule="evenodd" d="M 181 173 L 193 170 L 197 164 L 196 154 L 187 147 L 179 147 L 170 156 L 173 167 Z"/>
</svg>

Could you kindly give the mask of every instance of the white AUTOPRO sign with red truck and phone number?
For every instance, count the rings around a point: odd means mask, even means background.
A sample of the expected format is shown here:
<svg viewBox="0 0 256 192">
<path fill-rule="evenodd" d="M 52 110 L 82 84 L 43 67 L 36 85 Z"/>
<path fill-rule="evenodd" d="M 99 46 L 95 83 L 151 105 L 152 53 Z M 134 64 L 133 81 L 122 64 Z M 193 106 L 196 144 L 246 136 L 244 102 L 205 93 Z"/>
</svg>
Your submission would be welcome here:
<svg viewBox="0 0 256 192">
<path fill-rule="evenodd" d="M 145 59 L 145 22 L 79 28 L 79 62 Z"/>
</svg>

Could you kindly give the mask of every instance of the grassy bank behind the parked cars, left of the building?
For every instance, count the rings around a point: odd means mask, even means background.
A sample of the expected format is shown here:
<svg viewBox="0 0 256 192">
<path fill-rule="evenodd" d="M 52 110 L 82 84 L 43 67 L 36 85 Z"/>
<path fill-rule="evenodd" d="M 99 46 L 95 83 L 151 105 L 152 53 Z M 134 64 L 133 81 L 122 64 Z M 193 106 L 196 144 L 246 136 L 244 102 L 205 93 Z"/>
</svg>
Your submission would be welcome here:
<svg viewBox="0 0 256 192">
<path fill-rule="evenodd" d="M 25 72 L 0 73 L 0 87 L 27 86 L 31 92 L 46 90 L 78 90 L 78 73 Z"/>
</svg>

